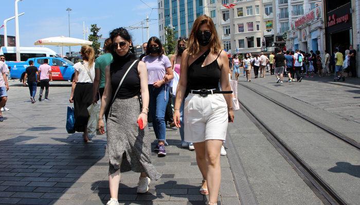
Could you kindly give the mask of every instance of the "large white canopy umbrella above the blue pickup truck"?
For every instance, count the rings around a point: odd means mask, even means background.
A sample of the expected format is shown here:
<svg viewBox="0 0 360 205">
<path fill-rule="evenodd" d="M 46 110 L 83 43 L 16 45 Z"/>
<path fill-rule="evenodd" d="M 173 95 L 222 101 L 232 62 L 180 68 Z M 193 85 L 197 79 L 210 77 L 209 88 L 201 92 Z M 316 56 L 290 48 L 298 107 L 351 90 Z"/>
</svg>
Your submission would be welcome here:
<svg viewBox="0 0 360 205">
<path fill-rule="evenodd" d="M 61 46 L 61 54 L 63 46 L 87 46 L 92 45 L 93 42 L 79 38 L 71 38 L 65 36 L 43 38 L 35 41 L 34 45 L 47 45 L 47 46 Z"/>
</svg>

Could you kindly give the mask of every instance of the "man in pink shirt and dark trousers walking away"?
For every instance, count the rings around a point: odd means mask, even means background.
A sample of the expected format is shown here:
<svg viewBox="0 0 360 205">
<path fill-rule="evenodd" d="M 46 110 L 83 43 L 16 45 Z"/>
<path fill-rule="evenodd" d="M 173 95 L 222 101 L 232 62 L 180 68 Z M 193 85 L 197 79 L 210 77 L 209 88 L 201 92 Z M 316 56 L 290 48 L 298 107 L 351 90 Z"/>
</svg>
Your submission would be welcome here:
<svg viewBox="0 0 360 205">
<path fill-rule="evenodd" d="M 40 80 L 40 95 L 39 95 L 39 101 L 41 101 L 41 98 L 43 97 L 43 91 L 44 88 L 45 91 L 45 100 L 48 101 L 47 98 L 49 95 L 49 81 L 52 82 L 52 74 L 51 74 L 51 67 L 49 66 L 49 60 L 47 58 L 44 59 L 44 64 L 39 67 L 39 77 Z"/>
</svg>

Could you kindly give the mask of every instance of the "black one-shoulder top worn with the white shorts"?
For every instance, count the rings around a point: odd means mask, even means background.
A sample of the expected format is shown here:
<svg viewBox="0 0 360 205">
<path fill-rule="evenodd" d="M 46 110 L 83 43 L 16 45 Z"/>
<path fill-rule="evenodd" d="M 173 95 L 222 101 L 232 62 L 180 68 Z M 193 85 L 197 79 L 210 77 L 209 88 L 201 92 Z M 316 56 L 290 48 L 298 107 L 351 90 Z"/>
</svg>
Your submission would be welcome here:
<svg viewBox="0 0 360 205">
<path fill-rule="evenodd" d="M 221 77 L 221 70 L 218 64 L 218 57 L 212 61 L 209 65 L 201 67 L 204 63 L 206 56 L 208 56 L 210 50 L 207 50 L 203 55 L 197 58 L 188 68 L 188 84 L 187 93 L 190 90 L 201 89 L 215 89 L 219 90 L 219 81 Z"/>
</svg>

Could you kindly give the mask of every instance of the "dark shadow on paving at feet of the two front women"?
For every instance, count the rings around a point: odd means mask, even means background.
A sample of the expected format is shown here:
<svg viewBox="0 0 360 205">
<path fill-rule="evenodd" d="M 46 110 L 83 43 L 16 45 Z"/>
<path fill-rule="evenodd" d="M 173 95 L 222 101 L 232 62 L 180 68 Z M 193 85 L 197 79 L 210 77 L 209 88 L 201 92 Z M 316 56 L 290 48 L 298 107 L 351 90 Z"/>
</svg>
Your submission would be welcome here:
<svg viewBox="0 0 360 205">
<path fill-rule="evenodd" d="M 118 191 L 119 203 L 125 205 L 150 205 L 158 204 L 160 201 L 167 201 L 168 204 L 171 204 L 175 201 L 187 201 L 187 204 L 191 205 L 204 205 L 207 201 L 206 196 L 203 196 L 199 193 L 199 186 L 182 185 L 177 184 L 176 181 L 169 180 L 164 181 L 164 183 L 155 185 L 154 188 L 155 189 L 152 188 L 150 183 L 150 189 L 147 193 L 138 194 L 136 193 L 136 185 L 134 185 L 134 187 L 130 187 L 128 185 L 124 185 L 120 181 Z M 98 198 L 93 198 L 92 200 L 101 200 L 102 204 L 106 204 L 106 202 L 110 200 L 111 196 L 108 180 L 94 182 L 91 189 L 93 193 L 98 195 Z M 171 198 L 173 198 L 173 200 L 171 200 Z"/>
</svg>

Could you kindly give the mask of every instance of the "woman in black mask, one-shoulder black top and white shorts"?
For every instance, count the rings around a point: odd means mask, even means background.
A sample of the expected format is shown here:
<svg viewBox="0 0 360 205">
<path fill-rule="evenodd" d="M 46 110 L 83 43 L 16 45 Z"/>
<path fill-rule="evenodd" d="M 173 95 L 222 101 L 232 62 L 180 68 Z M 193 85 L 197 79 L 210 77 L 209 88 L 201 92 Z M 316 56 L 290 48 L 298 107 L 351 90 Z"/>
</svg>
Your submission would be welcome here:
<svg viewBox="0 0 360 205">
<path fill-rule="evenodd" d="M 220 150 L 228 121 L 233 121 L 230 72 L 226 52 L 210 17 L 196 18 L 183 53 L 176 91 L 174 122 L 180 127 L 180 106 L 185 98 L 185 141 L 193 142 L 196 162 L 203 175 L 200 193 L 208 204 L 218 204 L 221 182 Z M 219 89 L 219 81 L 221 90 Z"/>
</svg>

